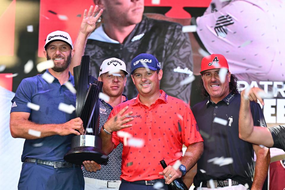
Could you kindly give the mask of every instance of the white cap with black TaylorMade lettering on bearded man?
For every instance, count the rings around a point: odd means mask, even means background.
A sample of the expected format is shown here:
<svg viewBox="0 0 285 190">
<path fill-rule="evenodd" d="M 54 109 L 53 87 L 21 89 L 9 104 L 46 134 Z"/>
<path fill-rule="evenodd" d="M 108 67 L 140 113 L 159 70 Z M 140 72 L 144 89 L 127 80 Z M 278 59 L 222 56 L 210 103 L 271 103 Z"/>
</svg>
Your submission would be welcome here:
<svg viewBox="0 0 285 190">
<path fill-rule="evenodd" d="M 47 48 L 47 46 L 54 41 L 62 41 L 67 43 L 68 45 L 71 46 L 71 48 L 73 49 L 73 45 L 72 45 L 72 40 L 71 37 L 69 36 L 69 34 L 67 32 L 64 31 L 54 31 L 50 34 L 47 35 L 47 39 L 45 40 L 45 49 Z"/>
</svg>

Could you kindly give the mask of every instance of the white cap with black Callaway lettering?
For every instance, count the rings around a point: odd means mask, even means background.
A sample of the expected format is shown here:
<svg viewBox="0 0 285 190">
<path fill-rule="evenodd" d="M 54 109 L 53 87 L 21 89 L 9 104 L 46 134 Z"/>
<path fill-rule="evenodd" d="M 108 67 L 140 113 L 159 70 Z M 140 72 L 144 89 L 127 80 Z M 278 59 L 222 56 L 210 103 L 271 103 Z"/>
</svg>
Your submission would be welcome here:
<svg viewBox="0 0 285 190">
<path fill-rule="evenodd" d="M 102 65 L 100 66 L 99 77 L 100 75 L 113 71 L 116 72 L 118 70 L 122 70 L 125 72 L 126 75 L 129 73 L 126 71 L 126 64 L 121 59 L 117 58 L 109 58 L 103 61 Z"/>
</svg>

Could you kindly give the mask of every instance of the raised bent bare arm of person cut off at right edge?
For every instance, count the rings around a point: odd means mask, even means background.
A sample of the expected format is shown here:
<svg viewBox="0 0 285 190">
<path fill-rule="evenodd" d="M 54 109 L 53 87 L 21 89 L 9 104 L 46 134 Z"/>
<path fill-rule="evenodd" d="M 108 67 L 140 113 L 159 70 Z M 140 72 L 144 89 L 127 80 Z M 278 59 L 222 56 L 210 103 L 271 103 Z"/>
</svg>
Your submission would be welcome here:
<svg viewBox="0 0 285 190">
<path fill-rule="evenodd" d="M 260 88 L 251 88 L 249 92 L 246 90 L 241 92 L 240 115 L 239 115 L 239 137 L 242 140 L 248 141 L 257 145 L 266 147 L 273 146 L 273 137 L 267 127 L 254 126 L 250 101 L 257 102 L 257 99 L 264 105 L 262 98 L 259 96 L 262 92 Z"/>
</svg>

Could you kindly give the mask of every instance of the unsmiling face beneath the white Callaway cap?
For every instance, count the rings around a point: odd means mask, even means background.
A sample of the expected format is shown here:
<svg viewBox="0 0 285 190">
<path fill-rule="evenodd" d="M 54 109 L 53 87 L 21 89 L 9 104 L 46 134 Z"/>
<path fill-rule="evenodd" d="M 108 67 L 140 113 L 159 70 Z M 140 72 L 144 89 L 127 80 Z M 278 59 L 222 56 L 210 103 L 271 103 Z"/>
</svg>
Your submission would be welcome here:
<svg viewBox="0 0 285 190">
<path fill-rule="evenodd" d="M 98 80 L 103 82 L 103 93 L 110 97 L 122 96 L 126 85 L 127 78 L 125 73 L 120 70 L 120 72 L 117 72 L 116 74 L 119 74 L 120 76 L 114 76 L 106 72 L 98 77 Z"/>
</svg>

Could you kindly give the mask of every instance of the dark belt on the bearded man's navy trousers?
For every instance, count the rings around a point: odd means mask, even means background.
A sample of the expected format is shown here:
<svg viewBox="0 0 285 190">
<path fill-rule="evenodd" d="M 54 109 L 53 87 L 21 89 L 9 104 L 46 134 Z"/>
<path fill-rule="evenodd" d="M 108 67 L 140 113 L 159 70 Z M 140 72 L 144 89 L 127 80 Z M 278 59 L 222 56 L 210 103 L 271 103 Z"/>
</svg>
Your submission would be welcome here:
<svg viewBox="0 0 285 190">
<path fill-rule="evenodd" d="M 52 166 L 54 168 L 71 168 L 71 167 L 81 167 L 81 165 L 71 164 L 69 162 L 52 162 L 52 161 L 45 161 L 35 158 L 26 158 L 24 162 L 28 163 L 37 163 L 45 166 Z"/>
</svg>

